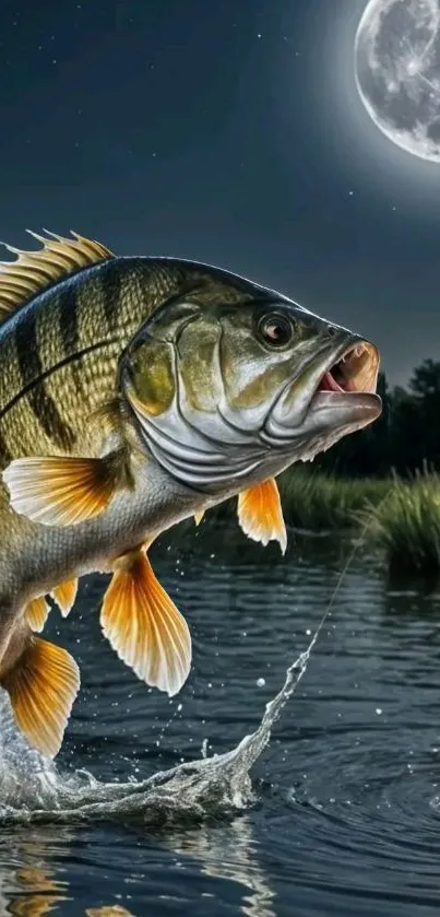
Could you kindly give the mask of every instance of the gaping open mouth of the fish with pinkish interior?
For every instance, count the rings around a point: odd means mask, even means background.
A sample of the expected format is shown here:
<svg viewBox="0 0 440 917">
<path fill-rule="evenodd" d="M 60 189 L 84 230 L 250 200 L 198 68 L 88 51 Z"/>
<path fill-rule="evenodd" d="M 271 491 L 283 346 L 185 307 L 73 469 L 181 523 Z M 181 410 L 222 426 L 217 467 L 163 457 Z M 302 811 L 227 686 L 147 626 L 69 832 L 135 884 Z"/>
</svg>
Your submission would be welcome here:
<svg viewBox="0 0 440 917">
<path fill-rule="evenodd" d="M 379 352 L 373 344 L 360 341 L 352 344 L 330 369 L 326 369 L 318 391 L 374 393 L 379 373 Z"/>
</svg>

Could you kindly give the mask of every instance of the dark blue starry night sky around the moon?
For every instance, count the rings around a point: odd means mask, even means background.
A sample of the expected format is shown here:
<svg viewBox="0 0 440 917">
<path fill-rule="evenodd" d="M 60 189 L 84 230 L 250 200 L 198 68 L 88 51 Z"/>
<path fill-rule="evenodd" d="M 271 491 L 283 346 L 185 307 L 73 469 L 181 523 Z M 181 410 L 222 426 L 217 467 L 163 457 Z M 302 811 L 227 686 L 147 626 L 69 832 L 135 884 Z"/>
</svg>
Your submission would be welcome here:
<svg viewBox="0 0 440 917">
<path fill-rule="evenodd" d="M 371 338 L 405 383 L 439 358 L 440 166 L 361 107 L 364 7 L 3 0 L 0 238 L 225 267 Z"/>
</svg>

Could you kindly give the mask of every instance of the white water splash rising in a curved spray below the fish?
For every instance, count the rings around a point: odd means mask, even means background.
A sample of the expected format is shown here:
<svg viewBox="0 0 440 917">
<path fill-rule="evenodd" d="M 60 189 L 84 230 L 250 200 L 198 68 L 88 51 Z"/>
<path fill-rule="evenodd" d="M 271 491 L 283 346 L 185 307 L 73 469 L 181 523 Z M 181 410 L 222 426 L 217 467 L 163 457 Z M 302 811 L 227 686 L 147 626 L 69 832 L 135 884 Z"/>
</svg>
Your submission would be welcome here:
<svg viewBox="0 0 440 917">
<path fill-rule="evenodd" d="M 287 669 L 283 687 L 266 705 L 254 732 L 225 754 L 180 764 L 140 783 L 100 783 L 86 772 L 62 775 L 52 762 L 29 749 L 17 732 L 8 695 L 2 692 L 0 824 L 68 824 L 123 818 L 160 825 L 182 820 L 201 822 L 242 811 L 254 801 L 250 771 L 306 672 L 319 630 L 307 650 Z"/>
</svg>

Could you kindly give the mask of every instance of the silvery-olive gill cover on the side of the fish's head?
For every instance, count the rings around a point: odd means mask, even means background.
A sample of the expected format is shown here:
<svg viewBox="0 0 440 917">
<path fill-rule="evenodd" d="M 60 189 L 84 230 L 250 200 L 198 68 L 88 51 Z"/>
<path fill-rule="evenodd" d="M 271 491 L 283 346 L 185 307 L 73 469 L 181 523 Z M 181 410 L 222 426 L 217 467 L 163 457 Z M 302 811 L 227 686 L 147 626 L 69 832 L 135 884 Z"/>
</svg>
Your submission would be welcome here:
<svg viewBox="0 0 440 917">
<path fill-rule="evenodd" d="M 245 475 L 261 454 L 252 432 L 226 419 L 221 341 L 215 314 L 175 304 L 142 329 L 120 372 L 122 393 L 153 456 L 202 490 Z"/>
</svg>

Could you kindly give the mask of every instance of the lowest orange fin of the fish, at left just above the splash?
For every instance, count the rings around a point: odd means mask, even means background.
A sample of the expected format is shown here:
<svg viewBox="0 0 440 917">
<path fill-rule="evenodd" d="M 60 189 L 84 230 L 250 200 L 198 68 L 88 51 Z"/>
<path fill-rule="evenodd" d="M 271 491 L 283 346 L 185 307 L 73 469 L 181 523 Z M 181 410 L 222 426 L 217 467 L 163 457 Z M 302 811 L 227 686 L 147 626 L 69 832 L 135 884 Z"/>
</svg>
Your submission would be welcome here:
<svg viewBox="0 0 440 917">
<path fill-rule="evenodd" d="M 55 757 L 80 689 L 74 659 L 66 649 L 33 636 L 1 684 L 19 729 L 35 749 Z"/>
</svg>

